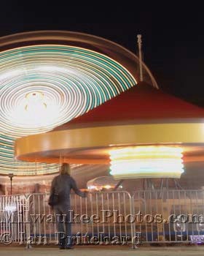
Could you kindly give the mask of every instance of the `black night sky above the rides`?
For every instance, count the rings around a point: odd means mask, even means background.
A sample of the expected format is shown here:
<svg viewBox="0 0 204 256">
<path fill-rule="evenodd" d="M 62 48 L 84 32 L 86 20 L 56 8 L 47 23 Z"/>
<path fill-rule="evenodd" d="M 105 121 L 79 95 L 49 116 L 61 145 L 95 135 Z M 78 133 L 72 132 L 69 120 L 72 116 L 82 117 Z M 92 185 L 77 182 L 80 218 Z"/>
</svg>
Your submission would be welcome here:
<svg viewBox="0 0 204 256">
<path fill-rule="evenodd" d="M 186 3 L 178 8 L 173 2 L 164 2 L 159 7 L 147 2 L 143 7 L 137 2 L 136 7 L 125 7 L 124 2 L 111 8 L 101 1 L 85 7 L 79 3 L 71 6 L 69 1 L 53 5 L 31 1 L 29 7 L 4 1 L 0 36 L 45 29 L 80 31 L 110 39 L 136 53 L 136 34 L 142 34 L 144 61 L 160 88 L 204 107 L 203 8 Z"/>
</svg>

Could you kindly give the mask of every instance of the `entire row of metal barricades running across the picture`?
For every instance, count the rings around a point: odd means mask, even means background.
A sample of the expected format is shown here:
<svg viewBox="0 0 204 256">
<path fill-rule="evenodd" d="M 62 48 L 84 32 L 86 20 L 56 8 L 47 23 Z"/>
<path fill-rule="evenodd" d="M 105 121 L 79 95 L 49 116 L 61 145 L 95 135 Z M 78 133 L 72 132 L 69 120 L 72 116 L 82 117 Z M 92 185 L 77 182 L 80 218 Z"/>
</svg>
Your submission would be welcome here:
<svg viewBox="0 0 204 256">
<path fill-rule="evenodd" d="M 18 243 L 58 243 L 48 194 L 0 196 L 0 234 Z M 71 194 L 75 244 L 189 243 L 204 241 L 203 190 L 144 190 Z M 42 241 L 42 238 L 44 239 Z"/>
</svg>

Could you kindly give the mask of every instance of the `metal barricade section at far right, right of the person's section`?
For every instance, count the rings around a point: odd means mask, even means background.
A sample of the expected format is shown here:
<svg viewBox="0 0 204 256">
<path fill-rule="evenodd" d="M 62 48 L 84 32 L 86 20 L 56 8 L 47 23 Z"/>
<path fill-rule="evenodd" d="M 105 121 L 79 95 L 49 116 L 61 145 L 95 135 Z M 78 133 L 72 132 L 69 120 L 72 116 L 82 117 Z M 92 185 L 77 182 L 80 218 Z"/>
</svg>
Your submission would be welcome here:
<svg viewBox="0 0 204 256">
<path fill-rule="evenodd" d="M 203 243 L 203 190 L 149 190 L 133 195 L 134 233 L 142 243 Z"/>
</svg>

